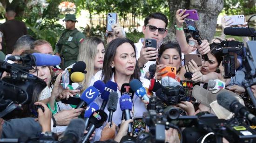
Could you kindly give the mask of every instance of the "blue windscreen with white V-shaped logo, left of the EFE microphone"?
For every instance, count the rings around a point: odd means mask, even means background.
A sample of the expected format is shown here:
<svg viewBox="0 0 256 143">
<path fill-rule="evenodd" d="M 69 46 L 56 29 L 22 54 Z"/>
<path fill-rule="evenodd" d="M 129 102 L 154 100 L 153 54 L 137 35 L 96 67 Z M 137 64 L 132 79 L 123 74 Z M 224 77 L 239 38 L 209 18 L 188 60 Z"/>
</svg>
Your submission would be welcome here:
<svg viewBox="0 0 256 143">
<path fill-rule="evenodd" d="M 88 105 L 91 104 L 99 95 L 99 91 L 93 87 L 89 86 L 81 95 L 81 99 Z"/>
</svg>

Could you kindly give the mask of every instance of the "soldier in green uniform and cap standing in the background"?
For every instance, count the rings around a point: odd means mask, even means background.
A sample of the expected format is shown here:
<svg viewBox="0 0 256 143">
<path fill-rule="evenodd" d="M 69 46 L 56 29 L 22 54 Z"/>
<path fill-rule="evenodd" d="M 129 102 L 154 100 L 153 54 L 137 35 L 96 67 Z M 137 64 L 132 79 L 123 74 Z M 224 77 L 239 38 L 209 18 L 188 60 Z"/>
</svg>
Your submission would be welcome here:
<svg viewBox="0 0 256 143">
<path fill-rule="evenodd" d="M 54 54 L 61 56 L 62 69 L 76 62 L 79 45 L 85 39 L 85 35 L 75 28 L 75 22 L 78 21 L 74 14 L 66 14 L 63 21 L 66 21 L 66 30 L 62 33 L 54 49 Z"/>
</svg>

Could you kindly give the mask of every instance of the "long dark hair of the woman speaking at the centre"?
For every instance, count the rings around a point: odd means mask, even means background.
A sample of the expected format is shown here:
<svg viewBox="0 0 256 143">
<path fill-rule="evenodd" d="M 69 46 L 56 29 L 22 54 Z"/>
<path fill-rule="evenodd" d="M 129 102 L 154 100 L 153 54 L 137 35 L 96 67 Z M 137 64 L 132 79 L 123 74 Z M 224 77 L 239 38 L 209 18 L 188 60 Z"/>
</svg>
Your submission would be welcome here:
<svg viewBox="0 0 256 143">
<path fill-rule="evenodd" d="M 117 38 L 117 39 L 112 40 L 108 44 L 108 48 L 105 51 L 105 56 L 104 56 L 104 62 L 103 62 L 103 67 L 102 67 L 102 76 L 101 76 L 104 83 L 107 83 L 109 80 L 111 80 L 112 74 L 115 72 L 115 67 L 111 68 L 111 63 L 114 60 L 116 49 L 123 43 L 131 44 L 134 49 L 135 56 L 136 56 L 136 50 L 135 50 L 135 45 L 134 45 L 133 41 L 126 39 L 126 38 Z M 141 74 L 141 71 L 140 71 L 139 65 L 136 61 L 135 70 L 134 70 L 133 75 L 131 75 L 131 79 L 140 79 L 140 74 Z"/>
</svg>

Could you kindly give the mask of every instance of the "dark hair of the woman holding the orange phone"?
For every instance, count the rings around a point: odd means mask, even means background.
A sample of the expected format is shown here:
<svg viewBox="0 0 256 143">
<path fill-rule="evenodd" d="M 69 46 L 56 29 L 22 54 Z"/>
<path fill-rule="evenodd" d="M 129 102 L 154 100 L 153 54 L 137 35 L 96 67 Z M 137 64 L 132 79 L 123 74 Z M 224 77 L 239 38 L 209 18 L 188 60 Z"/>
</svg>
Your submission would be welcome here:
<svg viewBox="0 0 256 143">
<path fill-rule="evenodd" d="M 182 58 L 182 50 L 181 50 L 179 43 L 177 41 L 168 41 L 168 42 L 160 45 L 160 47 L 158 49 L 158 55 L 157 55 L 159 59 L 162 56 L 162 53 L 167 49 L 177 50 L 177 52 L 179 52 L 180 58 Z"/>
</svg>

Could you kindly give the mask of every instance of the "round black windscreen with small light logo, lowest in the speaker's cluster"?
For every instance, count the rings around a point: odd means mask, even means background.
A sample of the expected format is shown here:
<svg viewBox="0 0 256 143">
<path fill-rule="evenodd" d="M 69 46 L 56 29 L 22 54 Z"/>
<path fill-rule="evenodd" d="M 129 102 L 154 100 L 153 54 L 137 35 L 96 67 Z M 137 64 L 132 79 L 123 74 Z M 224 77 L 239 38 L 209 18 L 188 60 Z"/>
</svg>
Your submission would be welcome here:
<svg viewBox="0 0 256 143">
<path fill-rule="evenodd" d="M 96 110 L 89 118 L 89 122 L 94 124 L 96 128 L 100 128 L 107 120 L 108 115 L 103 110 Z"/>
</svg>

